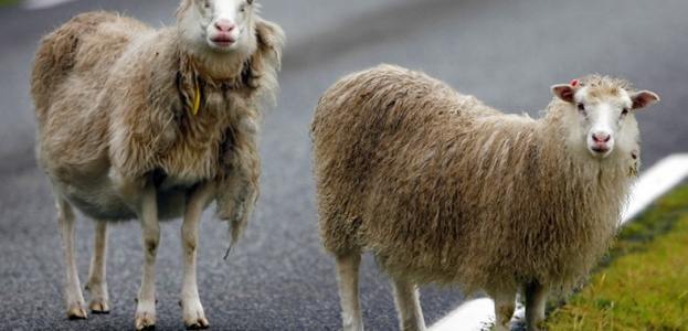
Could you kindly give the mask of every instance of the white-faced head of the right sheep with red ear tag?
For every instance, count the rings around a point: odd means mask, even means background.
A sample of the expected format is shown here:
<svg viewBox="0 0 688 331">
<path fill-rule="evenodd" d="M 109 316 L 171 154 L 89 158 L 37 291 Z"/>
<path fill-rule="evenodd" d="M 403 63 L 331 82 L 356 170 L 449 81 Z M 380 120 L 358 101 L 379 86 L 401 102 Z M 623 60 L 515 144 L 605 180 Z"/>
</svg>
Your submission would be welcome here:
<svg viewBox="0 0 688 331">
<path fill-rule="evenodd" d="M 570 104 L 579 122 L 578 132 L 572 134 L 599 159 L 608 157 L 615 145 L 633 149 L 638 139 L 634 111 L 659 100 L 652 92 L 634 92 L 626 81 L 599 75 L 554 85 L 552 92 Z"/>
</svg>

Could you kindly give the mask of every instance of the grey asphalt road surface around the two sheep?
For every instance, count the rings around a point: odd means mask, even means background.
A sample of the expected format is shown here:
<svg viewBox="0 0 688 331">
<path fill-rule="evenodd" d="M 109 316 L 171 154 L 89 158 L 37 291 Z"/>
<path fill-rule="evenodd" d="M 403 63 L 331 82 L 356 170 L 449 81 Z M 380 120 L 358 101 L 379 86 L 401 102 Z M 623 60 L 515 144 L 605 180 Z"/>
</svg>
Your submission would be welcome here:
<svg viewBox="0 0 688 331">
<path fill-rule="evenodd" d="M 317 238 L 308 125 L 325 89 L 341 75 L 381 62 L 422 70 L 508 113 L 533 117 L 549 87 L 588 73 L 629 79 L 661 103 L 637 114 L 643 162 L 688 150 L 688 1 L 264 0 L 288 44 L 278 106 L 262 143 L 258 213 L 223 260 L 226 224 L 204 214 L 199 287 L 213 330 L 337 330 L 334 264 Z M 127 330 L 142 252 L 136 222 L 110 228 L 112 312 L 67 321 L 62 256 L 50 185 L 35 166 L 29 97 L 38 41 L 72 15 L 117 10 L 171 24 L 177 1 L 88 0 L 29 11 L 0 8 L 0 329 Z M 157 327 L 182 329 L 180 221 L 162 224 L 157 264 Z M 93 224 L 76 231 L 85 280 Z M 487 245 L 488 243 L 486 243 Z M 391 286 L 367 256 L 361 273 L 369 330 L 395 330 Z M 461 303 L 457 289 L 425 288 L 426 323 Z"/>
</svg>

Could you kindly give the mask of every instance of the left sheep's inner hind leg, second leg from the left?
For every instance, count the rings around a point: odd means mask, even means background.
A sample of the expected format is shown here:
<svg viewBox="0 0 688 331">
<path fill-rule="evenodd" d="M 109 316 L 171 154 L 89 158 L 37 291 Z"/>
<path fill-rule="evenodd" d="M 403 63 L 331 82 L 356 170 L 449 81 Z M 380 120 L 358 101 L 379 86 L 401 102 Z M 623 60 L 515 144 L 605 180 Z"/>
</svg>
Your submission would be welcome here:
<svg viewBox="0 0 688 331">
<path fill-rule="evenodd" d="M 105 276 L 105 261 L 107 260 L 107 222 L 96 221 L 96 239 L 91 257 L 91 269 L 86 289 L 91 297 L 88 307 L 93 313 L 108 313 L 109 299 L 107 295 L 107 281 Z"/>
</svg>

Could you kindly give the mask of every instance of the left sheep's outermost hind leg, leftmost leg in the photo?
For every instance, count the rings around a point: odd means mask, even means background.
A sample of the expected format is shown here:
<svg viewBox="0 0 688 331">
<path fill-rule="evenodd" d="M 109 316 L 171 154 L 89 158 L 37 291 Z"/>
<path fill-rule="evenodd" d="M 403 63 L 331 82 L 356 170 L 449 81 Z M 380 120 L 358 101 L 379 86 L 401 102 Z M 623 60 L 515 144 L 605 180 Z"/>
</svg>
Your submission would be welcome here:
<svg viewBox="0 0 688 331">
<path fill-rule="evenodd" d="M 62 256 L 64 259 L 64 300 L 67 303 L 67 317 L 70 319 L 85 319 L 88 314 L 86 313 L 86 302 L 82 293 L 74 258 L 74 210 L 65 200 L 60 197 L 55 200 L 57 206 L 57 228 L 62 239 Z"/>
</svg>

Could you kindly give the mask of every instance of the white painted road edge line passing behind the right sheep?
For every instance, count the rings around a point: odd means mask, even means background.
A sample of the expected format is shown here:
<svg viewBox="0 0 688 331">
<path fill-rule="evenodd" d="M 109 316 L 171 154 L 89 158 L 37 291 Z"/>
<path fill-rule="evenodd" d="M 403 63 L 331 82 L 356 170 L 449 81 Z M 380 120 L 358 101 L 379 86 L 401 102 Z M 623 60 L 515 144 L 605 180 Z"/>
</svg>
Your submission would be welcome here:
<svg viewBox="0 0 688 331">
<path fill-rule="evenodd" d="M 633 189 L 622 224 L 635 217 L 661 194 L 688 178 L 688 153 L 673 154 L 661 159 L 643 172 Z M 519 305 L 520 306 L 520 305 Z M 518 307 L 515 319 L 522 319 L 525 309 Z M 433 324 L 431 331 L 478 331 L 495 321 L 495 306 L 489 298 L 466 301 L 456 310 Z"/>
</svg>

